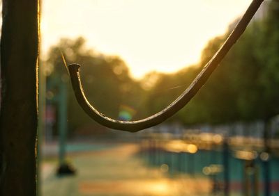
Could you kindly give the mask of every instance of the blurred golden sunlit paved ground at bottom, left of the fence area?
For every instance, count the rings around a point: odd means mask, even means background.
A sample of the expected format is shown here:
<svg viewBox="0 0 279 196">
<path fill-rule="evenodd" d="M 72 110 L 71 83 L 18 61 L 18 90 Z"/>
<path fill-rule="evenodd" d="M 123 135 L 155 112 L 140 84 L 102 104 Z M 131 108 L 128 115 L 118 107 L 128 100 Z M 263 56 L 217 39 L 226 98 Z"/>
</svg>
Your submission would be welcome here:
<svg viewBox="0 0 279 196">
<path fill-rule="evenodd" d="M 169 178 L 160 168 L 147 168 L 135 156 L 137 145 L 116 145 L 70 155 L 74 177 L 56 177 L 56 163 L 43 163 L 43 196 L 208 195 L 206 179 Z"/>
</svg>

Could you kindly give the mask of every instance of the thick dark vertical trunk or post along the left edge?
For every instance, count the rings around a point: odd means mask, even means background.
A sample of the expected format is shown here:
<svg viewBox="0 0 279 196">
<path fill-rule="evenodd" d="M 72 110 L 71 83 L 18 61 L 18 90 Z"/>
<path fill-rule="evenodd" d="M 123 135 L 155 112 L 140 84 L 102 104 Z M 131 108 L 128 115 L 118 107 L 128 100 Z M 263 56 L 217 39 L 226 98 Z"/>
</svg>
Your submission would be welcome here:
<svg viewBox="0 0 279 196">
<path fill-rule="evenodd" d="M 3 0 L 0 195 L 36 195 L 38 0 Z"/>
</svg>

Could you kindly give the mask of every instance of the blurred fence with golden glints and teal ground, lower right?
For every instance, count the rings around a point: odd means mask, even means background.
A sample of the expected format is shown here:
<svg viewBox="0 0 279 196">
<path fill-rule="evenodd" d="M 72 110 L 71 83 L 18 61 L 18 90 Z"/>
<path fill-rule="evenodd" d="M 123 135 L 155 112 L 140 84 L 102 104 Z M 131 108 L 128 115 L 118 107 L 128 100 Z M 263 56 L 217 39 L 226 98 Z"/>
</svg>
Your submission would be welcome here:
<svg viewBox="0 0 279 196">
<path fill-rule="evenodd" d="M 169 177 L 210 179 L 212 195 L 279 195 L 276 123 L 269 126 L 269 152 L 264 124 L 255 122 L 199 129 L 158 126 L 140 134 L 140 156 Z"/>
</svg>

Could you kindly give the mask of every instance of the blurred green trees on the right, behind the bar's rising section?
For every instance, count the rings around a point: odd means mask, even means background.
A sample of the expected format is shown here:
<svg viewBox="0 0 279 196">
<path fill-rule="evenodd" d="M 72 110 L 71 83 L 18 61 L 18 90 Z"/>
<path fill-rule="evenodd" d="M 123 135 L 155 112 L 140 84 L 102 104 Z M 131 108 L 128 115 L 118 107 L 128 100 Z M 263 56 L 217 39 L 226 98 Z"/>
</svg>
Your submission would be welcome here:
<svg viewBox="0 0 279 196">
<path fill-rule="evenodd" d="M 205 88 L 171 120 L 187 124 L 220 124 L 239 120 L 267 120 L 279 113 L 278 0 L 271 1 L 267 13 L 264 19 L 256 20 L 248 26 L 213 72 Z M 206 45 L 199 65 L 176 74 L 158 74 L 146 99 L 149 110 L 153 113 L 159 111 L 180 95 L 228 35 L 226 33 L 213 38 Z M 181 85 L 185 86 L 176 88 Z"/>
</svg>

